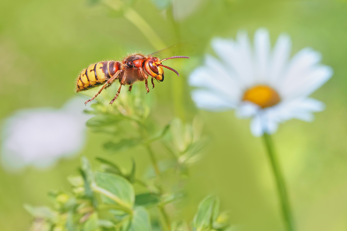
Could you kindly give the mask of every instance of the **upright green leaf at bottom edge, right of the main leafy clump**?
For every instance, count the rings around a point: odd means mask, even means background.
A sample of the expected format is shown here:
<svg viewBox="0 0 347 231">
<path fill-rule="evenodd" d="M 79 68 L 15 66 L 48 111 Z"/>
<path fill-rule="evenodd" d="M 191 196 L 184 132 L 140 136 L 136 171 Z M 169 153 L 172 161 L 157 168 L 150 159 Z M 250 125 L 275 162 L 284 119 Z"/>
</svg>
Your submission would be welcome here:
<svg viewBox="0 0 347 231">
<path fill-rule="evenodd" d="M 217 219 L 219 199 L 215 196 L 207 196 L 200 202 L 198 211 L 194 216 L 193 230 L 208 231 L 212 229 L 213 222 Z"/>
</svg>

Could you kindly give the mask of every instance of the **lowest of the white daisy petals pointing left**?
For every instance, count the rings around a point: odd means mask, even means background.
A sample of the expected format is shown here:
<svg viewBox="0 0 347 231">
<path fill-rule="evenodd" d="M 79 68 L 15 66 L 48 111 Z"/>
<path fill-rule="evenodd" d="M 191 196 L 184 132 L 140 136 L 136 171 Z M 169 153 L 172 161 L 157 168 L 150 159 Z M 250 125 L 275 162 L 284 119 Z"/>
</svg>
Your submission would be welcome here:
<svg viewBox="0 0 347 231">
<path fill-rule="evenodd" d="M 235 104 L 221 97 L 218 94 L 205 90 L 194 90 L 192 99 L 197 107 L 209 111 L 226 111 L 235 107 Z"/>
</svg>

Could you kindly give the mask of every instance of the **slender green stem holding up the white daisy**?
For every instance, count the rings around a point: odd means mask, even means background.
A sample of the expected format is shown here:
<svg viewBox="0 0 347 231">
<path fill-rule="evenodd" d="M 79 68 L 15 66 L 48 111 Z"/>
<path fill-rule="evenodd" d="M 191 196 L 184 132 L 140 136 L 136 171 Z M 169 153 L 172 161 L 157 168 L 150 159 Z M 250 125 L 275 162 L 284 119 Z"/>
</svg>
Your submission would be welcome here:
<svg viewBox="0 0 347 231">
<path fill-rule="evenodd" d="M 280 199 L 280 203 L 282 207 L 282 215 L 285 221 L 286 230 L 293 231 L 294 230 L 293 217 L 290 212 L 290 205 L 288 201 L 286 184 L 282 176 L 282 172 L 276 157 L 276 153 L 274 152 L 272 139 L 271 139 L 271 136 L 266 133 L 264 133 L 263 138 L 264 138 L 266 150 L 268 151 L 273 174 L 275 175 L 277 190 L 278 190 L 278 195 L 279 195 L 279 199 Z"/>
</svg>

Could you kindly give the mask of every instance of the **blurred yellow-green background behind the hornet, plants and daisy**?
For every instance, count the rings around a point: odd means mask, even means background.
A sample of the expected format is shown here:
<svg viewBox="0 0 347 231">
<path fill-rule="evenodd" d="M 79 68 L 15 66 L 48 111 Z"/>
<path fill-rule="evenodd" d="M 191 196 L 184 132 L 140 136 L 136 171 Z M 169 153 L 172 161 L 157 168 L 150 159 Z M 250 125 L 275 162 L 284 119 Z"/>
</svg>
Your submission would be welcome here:
<svg viewBox="0 0 347 231">
<path fill-rule="evenodd" d="M 272 44 L 281 32 L 293 40 L 293 52 L 311 46 L 332 66 L 333 78 L 314 92 L 327 108 L 313 123 L 291 120 L 274 135 L 287 180 L 298 230 L 347 229 L 347 2 L 194 0 L 178 1 L 193 10 L 172 23 L 150 0 L 134 1 L 133 8 L 167 45 L 185 42 L 175 73 L 149 94 L 160 124 L 180 115 L 175 106 L 177 81 L 183 97 L 178 102 L 189 121 L 198 113 L 211 139 L 202 160 L 194 165 L 187 184 L 188 205 L 181 214 L 192 220 L 197 204 L 207 194 L 220 196 L 222 210 L 240 230 L 283 230 L 276 188 L 261 138 L 253 137 L 249 121 L 233 112 L 197 111 L 186 80 L 203 55 L 211 52 L 214 36 L 233 37 L 246 29 L 253 37 L 259 27 L 269 29 Z M 179 3 L 180 2 L 180 3 Z M 183 7 L 184 8 L 184 7 Z M 194 45 L 192 45 L 194 44 Z M 75 78 L 90 63 L 120 60 L 127 53 L 155 52 L 151 43 L 122 14 L 86 0 L 12 0 L 0 2 L 1 123 L 15 110 L 61 107 L 75 95 Z M 171 61 L 168 61 L 168 63 Z M 173 63 L 174 61 L 172 61 Z M 113 86 L 117 87 L 117 86 Z M 142 175 L 149 163 L 144 150 L 113 154 L 102 149 L 102 134 L 88 132 L 83 154 L 104 156 L 130 169 L 131 157 Z M 159 159 L 164 156 L 159 156 Z M 0 168 L 0 229 L 27 230 L 32 217 L 23 204 L 50 204 L 51 189 L 69 189 L 66 177 L 77 171 L 79 157 L 61 160 L 48 169 L 26 168 L 6 172 Z"/>
</svg>

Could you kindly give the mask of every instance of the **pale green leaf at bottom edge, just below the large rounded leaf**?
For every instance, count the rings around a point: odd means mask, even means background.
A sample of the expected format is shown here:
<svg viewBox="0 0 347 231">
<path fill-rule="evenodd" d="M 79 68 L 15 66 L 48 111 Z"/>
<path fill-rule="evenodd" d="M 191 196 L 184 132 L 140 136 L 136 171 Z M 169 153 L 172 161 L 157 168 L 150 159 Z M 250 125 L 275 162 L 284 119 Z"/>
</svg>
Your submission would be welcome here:
<svg viewBox="0 0 347 231">
<path fill-rule="evenodd" d="M 150 216 L 144 207 L 135 208 L 128 231 L 152 231 Z"/>
</svg>

